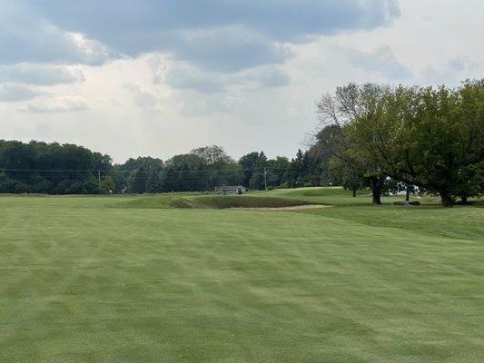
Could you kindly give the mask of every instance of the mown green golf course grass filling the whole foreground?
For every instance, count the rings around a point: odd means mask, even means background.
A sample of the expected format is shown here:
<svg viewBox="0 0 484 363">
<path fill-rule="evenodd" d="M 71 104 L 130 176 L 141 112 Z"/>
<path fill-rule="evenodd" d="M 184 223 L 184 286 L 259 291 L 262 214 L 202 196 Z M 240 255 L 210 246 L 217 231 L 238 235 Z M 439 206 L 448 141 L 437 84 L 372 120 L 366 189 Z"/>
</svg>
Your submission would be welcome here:
<svg viewBox="0 0 484 363">
<path fill-rule="evenodd" d="M 482 362 L 482 205 L 363 194 L 0 196 L 0 362 Z"/>
</svg>

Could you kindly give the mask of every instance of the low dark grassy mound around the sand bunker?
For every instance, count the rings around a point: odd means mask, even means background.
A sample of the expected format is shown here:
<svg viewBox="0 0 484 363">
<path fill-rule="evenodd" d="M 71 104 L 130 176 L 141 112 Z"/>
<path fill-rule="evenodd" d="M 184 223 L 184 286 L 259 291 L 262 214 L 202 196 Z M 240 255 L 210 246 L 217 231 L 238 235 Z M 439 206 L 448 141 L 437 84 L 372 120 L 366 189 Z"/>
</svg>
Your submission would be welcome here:
<svg viewBox="0 0 484 363">
<path fill-rule="evenodd" d="M 174 208 L 212 208 L 216 210 L 227 208 L 281 208 L 308 204 L 313 203 L 287 198 L 249 197 L 243 195 L 216 195 L 198 198 L 179 198 L 168 201 L 168 205 Z"/>
</svg>

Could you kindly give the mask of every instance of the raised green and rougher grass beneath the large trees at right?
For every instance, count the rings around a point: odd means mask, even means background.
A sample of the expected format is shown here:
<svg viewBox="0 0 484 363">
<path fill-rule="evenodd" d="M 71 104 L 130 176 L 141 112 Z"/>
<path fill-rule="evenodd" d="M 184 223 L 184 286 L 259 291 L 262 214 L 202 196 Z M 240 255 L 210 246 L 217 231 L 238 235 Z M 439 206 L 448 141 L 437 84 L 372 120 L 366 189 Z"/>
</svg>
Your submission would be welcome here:
<svg viewBox="0 0 484 363">
<path fill-rule="evenodd" d="M 402 196 L 383 197 L 384 205 L 371 205 L 371 197 L 361 193 L 352 198 L 341 188 L 301 188 L 297 190 L 275 191 L 271 195 L 280 198 L 295 198 L 307 202 L 334 205 L 337 208 L 301 211 L 345 221 L 358 221 L 374 227 L 398 227 L 414 231 L 428 232 L 453 238 L 484 240 L 484 204 L 479 201 L 470 206 L 456 205 L 442 208 L 439 198 L 420 198 L 422 205 L 394 206 L 393 201 L 401 201 Z"/>
</svg>

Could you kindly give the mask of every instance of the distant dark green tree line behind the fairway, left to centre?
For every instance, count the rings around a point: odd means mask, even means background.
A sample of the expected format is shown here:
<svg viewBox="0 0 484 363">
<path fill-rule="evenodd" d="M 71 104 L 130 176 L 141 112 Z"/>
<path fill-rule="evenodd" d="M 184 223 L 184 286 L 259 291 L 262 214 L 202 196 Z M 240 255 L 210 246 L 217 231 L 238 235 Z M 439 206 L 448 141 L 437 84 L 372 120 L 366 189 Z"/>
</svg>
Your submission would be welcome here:
<svg viewBox="0 0 484 363">
<path fill-rule="evenodd" d="M 163 162 L 152 157 L 113 164 L 109 155 L 73 144 L 0 140 L 0 192 L 49 194 L 213 191 L 242 184 L 252 190 L 321 185 L 308 152 L 289 161 L 250 152 L 237 162 L 220 146 L 193 149 Z"/>
</svg>

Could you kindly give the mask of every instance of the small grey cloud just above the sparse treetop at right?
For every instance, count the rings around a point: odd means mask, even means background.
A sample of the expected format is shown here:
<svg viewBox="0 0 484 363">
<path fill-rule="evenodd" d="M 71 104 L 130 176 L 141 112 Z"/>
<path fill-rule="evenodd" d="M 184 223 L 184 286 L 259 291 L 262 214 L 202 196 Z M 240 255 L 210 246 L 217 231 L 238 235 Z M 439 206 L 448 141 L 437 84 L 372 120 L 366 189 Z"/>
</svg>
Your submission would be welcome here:
<svg viewBox="0 0 484 363">
<path fill-rule="evenodd" d="M 355 67 L 382 74 L 390 80 L 402 80 L 412 75 L 409 67 L 395 59 L 388 45 L 381 45 L 373 52 L 346 48 L 343 53 Z"/>
</svg>

